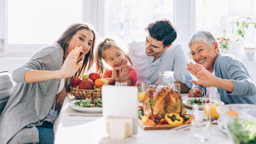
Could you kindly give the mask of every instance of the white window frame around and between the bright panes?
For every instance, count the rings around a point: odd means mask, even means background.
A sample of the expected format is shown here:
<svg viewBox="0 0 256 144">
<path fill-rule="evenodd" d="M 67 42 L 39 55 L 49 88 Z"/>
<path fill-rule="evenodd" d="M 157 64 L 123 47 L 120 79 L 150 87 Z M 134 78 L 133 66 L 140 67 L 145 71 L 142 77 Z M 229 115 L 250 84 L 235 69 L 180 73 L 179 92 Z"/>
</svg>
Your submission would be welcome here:
<svg viewBox="0 0 256 144">
<path fill-rule="evenodd" d="M 0 0 L 0 38 L 5 39 L 5 57 L 29 58 L 47 45 L 7 44 L 7 0 Z M 106 0 L 82 0 L 82 21 L 91 23 L 99 37 L 106 35 Z M 3 20 L 3 21 L 2 21 Z M 175 44 L 189 52 L 188 41 L 195 33 L 195 0 L 174 0 Z"/>
</svg>

